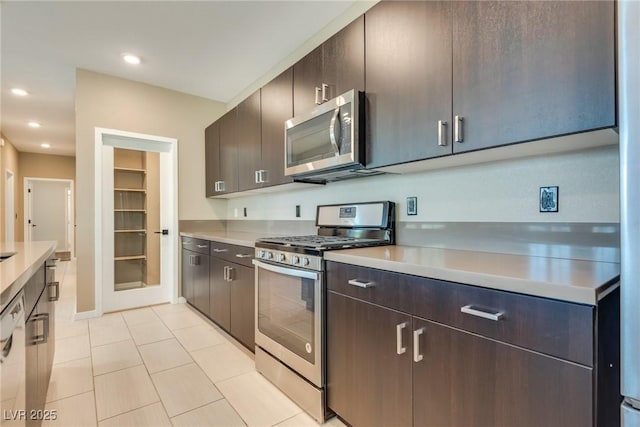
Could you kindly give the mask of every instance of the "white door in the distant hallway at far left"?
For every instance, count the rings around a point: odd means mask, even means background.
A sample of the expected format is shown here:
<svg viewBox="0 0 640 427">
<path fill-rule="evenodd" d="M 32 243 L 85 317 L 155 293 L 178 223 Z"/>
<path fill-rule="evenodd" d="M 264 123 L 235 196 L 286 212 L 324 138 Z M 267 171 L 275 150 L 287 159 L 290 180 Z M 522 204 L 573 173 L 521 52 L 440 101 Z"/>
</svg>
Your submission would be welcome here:
<svg viewBox="0 0 640 427">
<path fill-rule="evenodd" d="M 63 180 L 25 178 L 27 187 L 28 240 L 54 240 L 56 251 L 69 250 L 69 205 L 71 184 Z"/>
</svg>

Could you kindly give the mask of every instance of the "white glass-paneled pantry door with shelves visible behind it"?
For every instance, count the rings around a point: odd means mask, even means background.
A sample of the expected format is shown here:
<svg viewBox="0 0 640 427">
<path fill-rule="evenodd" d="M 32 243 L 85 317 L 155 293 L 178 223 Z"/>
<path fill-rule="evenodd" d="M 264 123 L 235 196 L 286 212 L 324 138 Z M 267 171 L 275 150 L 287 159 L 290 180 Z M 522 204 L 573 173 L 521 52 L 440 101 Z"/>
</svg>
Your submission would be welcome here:
<svg viewBox="0 0 640 427">
<path fill-rule="evenodd" d="M 96 143 L 96 309 L 175 302 L 177 141 L 97 129 Z"/>
</svg>

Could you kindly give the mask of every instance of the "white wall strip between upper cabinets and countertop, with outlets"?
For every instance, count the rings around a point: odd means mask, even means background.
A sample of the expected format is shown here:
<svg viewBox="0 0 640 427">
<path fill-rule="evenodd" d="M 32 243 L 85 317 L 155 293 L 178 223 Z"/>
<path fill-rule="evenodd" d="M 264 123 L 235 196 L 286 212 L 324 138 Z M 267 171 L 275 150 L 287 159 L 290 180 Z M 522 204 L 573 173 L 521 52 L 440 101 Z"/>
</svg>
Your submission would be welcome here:
<svg viewBox="0 0 640 427">
<path fill-rule="evenodd" d="M 391 200 L 400 221 L 619 222 L 618 147 L 505 160 L 229 200 L 228 219 L 315 219 L 318 204 Z M 559 212 L 539 212 L 539 187 L 559 186 Z M 406 215 L 406 197 L 418 215 Z"/>
</svg>

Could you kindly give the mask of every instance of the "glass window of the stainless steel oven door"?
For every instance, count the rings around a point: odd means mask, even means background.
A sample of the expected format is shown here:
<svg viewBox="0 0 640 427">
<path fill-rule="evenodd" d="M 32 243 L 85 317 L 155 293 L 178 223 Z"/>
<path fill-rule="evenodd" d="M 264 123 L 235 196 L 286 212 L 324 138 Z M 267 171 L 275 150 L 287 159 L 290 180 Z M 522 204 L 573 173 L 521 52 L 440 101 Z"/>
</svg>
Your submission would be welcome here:
<svg viewBox="0 0 640 427">
<path fill-rule="evenodd" d="M 315 363 L 315 280 L 260 269 L 258 329 L 310 363 Z"/>
</svg>

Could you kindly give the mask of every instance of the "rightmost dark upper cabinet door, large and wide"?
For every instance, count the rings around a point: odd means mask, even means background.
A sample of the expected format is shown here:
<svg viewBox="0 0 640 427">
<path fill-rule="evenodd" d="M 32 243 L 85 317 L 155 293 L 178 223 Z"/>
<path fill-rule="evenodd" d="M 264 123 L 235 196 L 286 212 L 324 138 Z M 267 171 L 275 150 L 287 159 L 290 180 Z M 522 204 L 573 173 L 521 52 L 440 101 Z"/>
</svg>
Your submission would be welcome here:
<svg viewBox="0 0 640 427">
<path fill-rule="evenodd" d="M 615 2 L 452 4 L 455 152 L 615 125 Z"/>
</svg>

